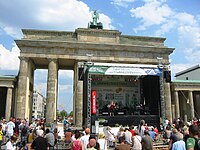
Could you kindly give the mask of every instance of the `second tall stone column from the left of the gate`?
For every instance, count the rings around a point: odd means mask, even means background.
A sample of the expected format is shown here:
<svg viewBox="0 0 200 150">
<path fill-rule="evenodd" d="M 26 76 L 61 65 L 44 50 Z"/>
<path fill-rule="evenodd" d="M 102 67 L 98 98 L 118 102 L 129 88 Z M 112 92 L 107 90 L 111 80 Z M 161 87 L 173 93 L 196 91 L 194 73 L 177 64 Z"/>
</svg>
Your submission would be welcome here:
<svg viewBox="0 0 200 150">
<path fill-rule="evenodd" d="M 57 94 L 58 94 L 58 62 L 57 59 L 48 59 L 46 122 L 56 119 Z"/>
</svg>

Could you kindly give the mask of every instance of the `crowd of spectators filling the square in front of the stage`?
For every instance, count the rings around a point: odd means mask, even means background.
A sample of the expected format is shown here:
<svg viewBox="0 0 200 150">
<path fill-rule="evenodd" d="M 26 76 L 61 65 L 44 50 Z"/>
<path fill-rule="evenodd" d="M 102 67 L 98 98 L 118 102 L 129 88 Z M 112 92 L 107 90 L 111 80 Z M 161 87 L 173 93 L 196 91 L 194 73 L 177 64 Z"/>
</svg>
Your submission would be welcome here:
<svg viewBox="0 0 200 150">
<path fill-rule="evenodd" d="M 184 124 L 180 118 L 173 122 L 166 119 L 160 132 L 157 127 L 148 126 L 144 120 L 138 126 L 121 126 L 118 132 L 113 132 L 107 126 L 99 134 L 91 134 L 89 128 L 66 128 L 65 121 L 63 127 L 63 144 L 71 150 L 153 150 L 154 144 L 161 142 L 161 139 L 168 150 L 200 150 L 199 121 L 196 118 L 191 124 Z M 42 119 L 29 123 L 25 119 L 11 118 L 8 122 L 5 119 L 0 122 L 0 144 L 7 150 L 15 150 L 16 147 L 22 150 L 55 149 L 57 141 L 57 121 L 48 127 L 45 127 L 45 120 Z"/>
</svg>

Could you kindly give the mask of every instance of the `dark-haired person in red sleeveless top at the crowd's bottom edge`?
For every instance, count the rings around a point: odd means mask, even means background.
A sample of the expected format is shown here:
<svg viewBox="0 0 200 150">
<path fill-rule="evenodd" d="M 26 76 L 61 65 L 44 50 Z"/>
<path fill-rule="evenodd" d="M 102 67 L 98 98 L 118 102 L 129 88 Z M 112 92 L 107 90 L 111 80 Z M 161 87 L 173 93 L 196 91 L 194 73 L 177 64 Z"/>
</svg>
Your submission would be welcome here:
<svg viewBox="0 0 200 150">
<path fill-rule="evenodd" d="M 81 141 L 81 133 L 76 130 L 75 131 L 75 140 L 72 143 L 72 150 L 83 150 L 83 142 Z"/>
</svg>

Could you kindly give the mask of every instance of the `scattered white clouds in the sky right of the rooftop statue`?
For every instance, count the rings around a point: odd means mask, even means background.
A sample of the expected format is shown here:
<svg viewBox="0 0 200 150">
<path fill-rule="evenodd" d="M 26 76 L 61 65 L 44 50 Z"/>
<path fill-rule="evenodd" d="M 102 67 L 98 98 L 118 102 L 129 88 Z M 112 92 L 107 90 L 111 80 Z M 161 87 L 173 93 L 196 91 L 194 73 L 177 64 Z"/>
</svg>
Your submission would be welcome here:
<svg viewBox="0 0 200 150">
<path fill-rule="evenodd" d="M 132 8 L 131 16 L 138 19 L 139 25 L 133 30 L 152 30 L 154 36 L 172 34 L 178 36 L 176 52 L 182 55 L 183 64 L 173 66 L 173 72 L 186 69 L 185 67 L 199 64 L 200 60 L 200 19 L 187 12 L 178 12 L 170 8 L 166 1 L 145 0 L 144 5 Z M 170 37 L 170 36 L 169 36 Z M 180 59 L 180 57 L 179 57 Z M 181 59 L 180 59 L 181 60 Z M 176 67 L 178 66 L 178 67 Z"/>
</svg>

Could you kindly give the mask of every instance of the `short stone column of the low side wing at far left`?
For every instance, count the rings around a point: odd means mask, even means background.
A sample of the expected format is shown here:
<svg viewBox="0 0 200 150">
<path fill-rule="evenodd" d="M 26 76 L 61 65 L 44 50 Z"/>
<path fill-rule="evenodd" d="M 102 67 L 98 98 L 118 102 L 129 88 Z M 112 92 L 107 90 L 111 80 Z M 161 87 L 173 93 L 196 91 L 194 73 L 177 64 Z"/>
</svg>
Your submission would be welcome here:
<svg viewBox="0 0 200 150">
<path fill-rule="evenodd" d="M 12 93 L 13 89 L 7 88 L 7 96 L 6 96 L 6 111 L 5 111 L 5 119 L 9 120 L 11 117 L 11 106 L 12 106 Z"/>
</svg>

